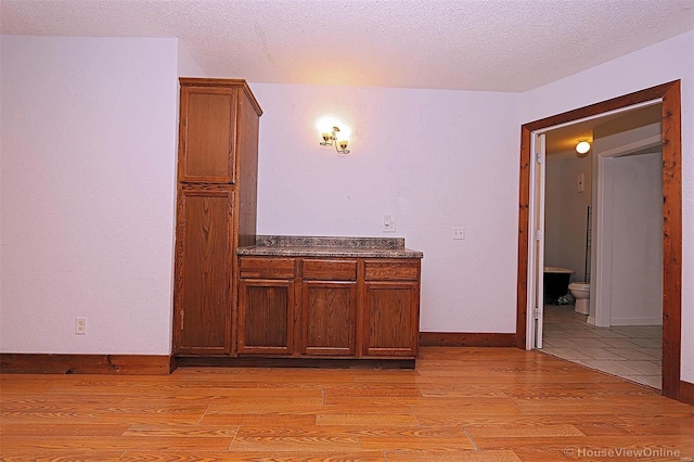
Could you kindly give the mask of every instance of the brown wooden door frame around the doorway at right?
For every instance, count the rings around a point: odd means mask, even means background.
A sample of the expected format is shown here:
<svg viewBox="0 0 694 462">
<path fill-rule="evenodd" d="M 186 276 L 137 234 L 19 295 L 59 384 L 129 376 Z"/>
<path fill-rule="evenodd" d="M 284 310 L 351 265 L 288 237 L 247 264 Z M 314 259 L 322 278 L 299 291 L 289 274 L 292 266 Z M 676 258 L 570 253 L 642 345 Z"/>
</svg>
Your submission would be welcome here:
<svg viewBox="0 0 694 462">
<path fill-rule="evenodd" d="M 680 398 L 682 312 L 682 137 L 680 80 L 545 117 L 520 127 L 516 347 L 525 349 L 528 292 L 530 134 L 653 100 L 663 100 L 663 395 Z"/>
</svg>

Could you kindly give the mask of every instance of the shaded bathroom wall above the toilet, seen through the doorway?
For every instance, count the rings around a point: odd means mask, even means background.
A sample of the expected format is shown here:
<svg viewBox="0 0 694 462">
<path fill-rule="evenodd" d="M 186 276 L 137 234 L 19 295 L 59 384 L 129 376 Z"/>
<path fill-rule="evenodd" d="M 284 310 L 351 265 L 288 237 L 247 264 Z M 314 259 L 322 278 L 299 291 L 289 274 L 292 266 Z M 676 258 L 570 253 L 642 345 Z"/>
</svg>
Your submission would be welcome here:
<svg viewBox="0 0 694 462">
<path fill-rule="evenodd" d="M 591 204 L 592 154 L 575 152 L 548 156 L 545 181 L 544 262 L 574 270 L 571 281 L 586 280 L 586 224 Z M 583 191 L 578 175 L 583 174 Z M 549 243 L 549 245 L 548 245 Z"/>
</svg>

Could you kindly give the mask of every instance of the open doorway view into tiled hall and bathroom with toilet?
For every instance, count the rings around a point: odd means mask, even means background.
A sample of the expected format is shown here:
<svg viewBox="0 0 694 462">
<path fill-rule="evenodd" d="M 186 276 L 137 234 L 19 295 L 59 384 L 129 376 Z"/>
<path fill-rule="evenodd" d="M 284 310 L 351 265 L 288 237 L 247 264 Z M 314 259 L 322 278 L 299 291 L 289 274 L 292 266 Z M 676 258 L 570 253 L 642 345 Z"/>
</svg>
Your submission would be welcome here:
<svg viewBox="0 0 694 462">
<path fill-rule="evenodd" d="M 545 290 L 542 351 L 656 389 L 663 356 L 660 114 L 658 102 L 545 133 L 544 278 L 548 269 L 554 279 L 563 270 L 573 283 L 565 278 Z M 580 139 L 591 141 L 588 153 L 574 149 Z M 574 304 L 573 295 L 591 288 L 603 298 Z"/>
</svg>

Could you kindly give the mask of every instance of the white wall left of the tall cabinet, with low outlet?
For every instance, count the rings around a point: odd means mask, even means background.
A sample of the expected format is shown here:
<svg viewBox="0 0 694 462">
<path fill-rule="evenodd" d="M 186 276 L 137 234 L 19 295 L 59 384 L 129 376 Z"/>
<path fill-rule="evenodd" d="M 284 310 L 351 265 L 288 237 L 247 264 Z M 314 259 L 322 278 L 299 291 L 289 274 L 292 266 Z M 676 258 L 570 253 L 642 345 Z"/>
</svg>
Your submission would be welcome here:
<svg viewBox="0 0 694 462">
<path fill-rule="evenodd" d="M 0 350 L 168 354 L 177 41 L 0 47 Z"/>
</svg>

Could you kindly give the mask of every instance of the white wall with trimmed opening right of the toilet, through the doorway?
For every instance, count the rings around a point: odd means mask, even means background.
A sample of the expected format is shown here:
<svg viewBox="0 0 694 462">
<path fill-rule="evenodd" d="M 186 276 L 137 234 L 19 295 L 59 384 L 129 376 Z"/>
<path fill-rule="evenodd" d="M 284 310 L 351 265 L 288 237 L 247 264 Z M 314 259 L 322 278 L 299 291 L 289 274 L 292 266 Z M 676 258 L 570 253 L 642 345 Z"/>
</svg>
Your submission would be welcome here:
<svg viewBox="0 0 694 462">
<path fill-rule="evenodd" d="M 607 124 L 593 133 L 594 169 L 602 169 L 596 174 L 595 201 L 604 197 L 593 226 L 591 315 L 597 325 L 663 322 L 661 153 L 655 147 L 641 155 L 603 156 L 658 139 L 660 131 L 657 123 L 607 134 Z"/>
</svg>

